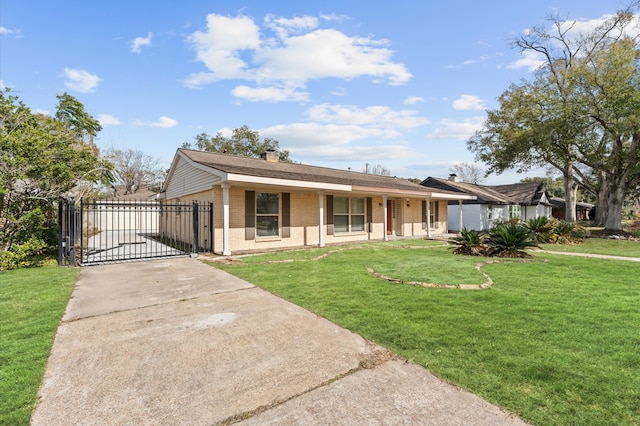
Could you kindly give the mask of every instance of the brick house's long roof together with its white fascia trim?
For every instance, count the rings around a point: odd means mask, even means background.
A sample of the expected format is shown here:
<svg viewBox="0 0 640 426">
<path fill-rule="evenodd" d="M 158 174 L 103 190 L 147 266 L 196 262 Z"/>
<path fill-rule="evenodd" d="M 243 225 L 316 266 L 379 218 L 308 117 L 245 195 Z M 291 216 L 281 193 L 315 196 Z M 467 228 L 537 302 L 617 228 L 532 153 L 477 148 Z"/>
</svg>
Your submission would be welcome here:
<svg viewBox="0 0 640 426">
<path fill-rule="evenodd" d="M 366 173 L 359 173 L 326 167 L 310 166 L 298 163 L 271 162 L 260 158 L 239 157 L 228 154 L 213 152 L 195 151 L 190 149 L 178 149 L 176 156 L 182 156 L 189 161 L 204 166 L 217 174 L 225 181 L 254 183 L 280 183 L 288 182 L 289 186 L 296 186 L 295 183 L 309 183 L 317 189 L 344 189 L 363 192 L 391 192 L 403 195 L 415 196 L 442 196 L 444 198 L 470 199 L 468 194 L 460 194 L 450 191 L 439 191 L 434 194 L 433 190 L 424 186 L 390 176 L 380 176 Z M 176 161 L 172 164 L 174 168 Z M 220 173 L 221 172 L 221 173 Z M 169 172 L 169 178 L 172 170 Z M 248 179 L 253 177 L 257 179 Z M 168 179 L 169 179 L 168 178 Z M 347 189 L 348 188 L 348 189 Z"/>
</svg>

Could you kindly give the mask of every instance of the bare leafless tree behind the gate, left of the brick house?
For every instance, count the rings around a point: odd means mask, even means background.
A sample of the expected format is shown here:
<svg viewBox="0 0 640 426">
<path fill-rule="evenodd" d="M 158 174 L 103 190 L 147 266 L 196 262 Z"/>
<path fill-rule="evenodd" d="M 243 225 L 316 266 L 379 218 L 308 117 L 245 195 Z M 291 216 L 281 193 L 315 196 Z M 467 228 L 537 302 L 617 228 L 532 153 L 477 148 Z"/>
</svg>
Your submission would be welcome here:
<svg viewBox="0 0 640 426">
<path fill-rule="evenodd" d="M 157 190 L 166 176 L 158 158 L 139 150 L 111 148 L 104 157 L 113 164 L 112 184 L 122 186 L 123 195 L 145 188 Z"/>
</svg>

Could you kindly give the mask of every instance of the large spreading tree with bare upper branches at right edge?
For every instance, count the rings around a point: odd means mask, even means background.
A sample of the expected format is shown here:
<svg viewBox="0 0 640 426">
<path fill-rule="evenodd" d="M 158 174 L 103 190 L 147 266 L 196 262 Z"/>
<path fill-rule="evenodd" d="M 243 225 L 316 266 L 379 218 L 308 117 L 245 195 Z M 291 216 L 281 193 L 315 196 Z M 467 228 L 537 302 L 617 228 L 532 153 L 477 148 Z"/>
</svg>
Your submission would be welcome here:
<svg viewBox="0 0 640 426">
<path fill-rule="evenodd" d="M 638 43 L 629 35 L 637 9 L 634 1 L 580 36 L 572 31 L 575 22 L 557 15 L 553 31 L 534 28 L 522 35 L 515 46 L 539 54 L 543 66 L 535 80 L 501 96 L 500 109 L 489 112 L 484 129 L 469 141 L 494 171 L 532 165 L 560 170 L 569 213 L 577 182 L 606 197 L 605 227 L 614 231 L 622 228 L 624 195 L 639 179 Z"/>
</svg>

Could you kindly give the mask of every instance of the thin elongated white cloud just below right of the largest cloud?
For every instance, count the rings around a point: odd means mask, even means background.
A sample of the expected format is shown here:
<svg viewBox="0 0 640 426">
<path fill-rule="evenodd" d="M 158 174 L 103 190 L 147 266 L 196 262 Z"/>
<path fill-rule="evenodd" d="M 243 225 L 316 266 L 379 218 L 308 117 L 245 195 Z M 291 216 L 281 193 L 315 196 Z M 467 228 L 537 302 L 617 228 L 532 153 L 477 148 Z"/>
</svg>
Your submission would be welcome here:
<svg viewBox="0 0 640 426">
<path fill-rule="evenodd" d="M 309 108 L 307 114 L 314 121 L 387 129 L 409 129 L 429 123 L 426 118 L 418 117 L 416 111 L 395 111 L 387 106 L 359 108 L 353 105 L 320 104 Z"/>
</svg>

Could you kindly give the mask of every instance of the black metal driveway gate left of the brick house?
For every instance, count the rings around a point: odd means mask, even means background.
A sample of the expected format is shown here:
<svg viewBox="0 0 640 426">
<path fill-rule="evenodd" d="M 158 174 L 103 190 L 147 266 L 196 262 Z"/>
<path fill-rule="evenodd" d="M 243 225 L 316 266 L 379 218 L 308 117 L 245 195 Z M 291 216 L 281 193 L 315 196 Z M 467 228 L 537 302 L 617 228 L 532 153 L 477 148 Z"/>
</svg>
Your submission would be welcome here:
<svg viewBox="0 0 640 426">
<path fill-rule="evenodd" d="M 213 252 L 213 205 L 194 201 L 61 200 L 58 264 Z"/>
</svg>

